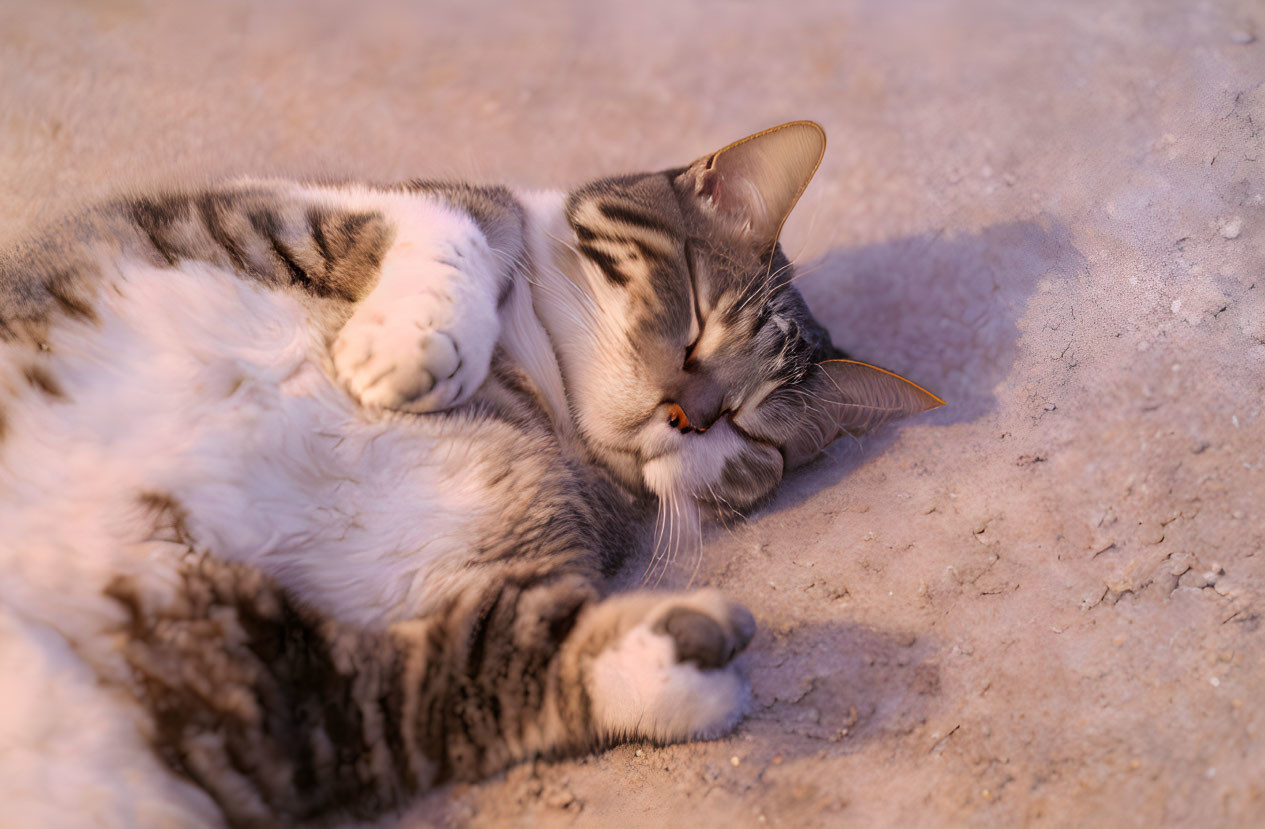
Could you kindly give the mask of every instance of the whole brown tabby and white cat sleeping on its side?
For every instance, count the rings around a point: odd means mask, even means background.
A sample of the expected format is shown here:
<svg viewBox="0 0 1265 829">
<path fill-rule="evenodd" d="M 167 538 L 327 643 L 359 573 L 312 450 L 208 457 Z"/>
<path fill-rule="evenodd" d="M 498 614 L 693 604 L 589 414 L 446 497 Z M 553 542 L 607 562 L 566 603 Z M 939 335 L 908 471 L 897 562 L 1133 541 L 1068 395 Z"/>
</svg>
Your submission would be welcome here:
<svg viewBox="0 0 1265 829">
<path fill-rule="evenodd" d="M 798 122 L 571 194 L 244 181 L 9 252 L 5 821 L 367 816 L 730 729 L 751 615 L 606 580 L 939 404 L 791 284 L 824 148 Z"/>
</svg>

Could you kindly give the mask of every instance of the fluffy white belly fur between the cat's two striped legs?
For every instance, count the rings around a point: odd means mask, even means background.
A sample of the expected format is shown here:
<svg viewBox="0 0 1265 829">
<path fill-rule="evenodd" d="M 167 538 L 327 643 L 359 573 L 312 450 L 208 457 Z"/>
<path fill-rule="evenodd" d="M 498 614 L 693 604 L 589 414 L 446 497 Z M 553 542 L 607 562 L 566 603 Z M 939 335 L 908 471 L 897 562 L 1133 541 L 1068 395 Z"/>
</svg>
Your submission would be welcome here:
<svg viewBox="0 0 1265 829">
<path fill-rule="evenodd" d="M 109 608 L 100 590 L 118 573 L 161 582 L 171 545 L 147 543 L 138 504 L 154 492 L 183 506 L 199 545 L 326 613 L 417 611 L 486 510 L 478 430 L 359 411 L 291 296 L 211 266 L 120 271 L 97 323 L 51 334 L 66 399 L 30 389 L 5 405 L 0 599 L 65 628 Z M 29 347 L 6 348 L 3 380 L 23 389 Z"/>
</svg>

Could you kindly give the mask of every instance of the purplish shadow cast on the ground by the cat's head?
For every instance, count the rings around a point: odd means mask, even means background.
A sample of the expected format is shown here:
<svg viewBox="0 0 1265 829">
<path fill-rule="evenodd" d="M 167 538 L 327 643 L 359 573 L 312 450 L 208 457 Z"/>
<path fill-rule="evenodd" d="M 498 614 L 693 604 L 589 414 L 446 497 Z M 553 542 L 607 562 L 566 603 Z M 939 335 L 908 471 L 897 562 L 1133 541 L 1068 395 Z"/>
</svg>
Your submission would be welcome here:
<svg viewBox="0 0 1265 829">
<path fill-rule="evenodd" d="M 990 416 L 994 389 L 1018 354 L 1017 323 L 1030 299 L 1042 281 L 1075 278 L 1085 267 L 1064 225 L 1035 219 L 837 248 L 801 263 L 799 290 L 837 346 L 926 386 L 946 404 L 875 434 L 836 440 L 787 476 L 762 513 L 796 506 L 846 478 L 910 423 Z"/>
</svg>

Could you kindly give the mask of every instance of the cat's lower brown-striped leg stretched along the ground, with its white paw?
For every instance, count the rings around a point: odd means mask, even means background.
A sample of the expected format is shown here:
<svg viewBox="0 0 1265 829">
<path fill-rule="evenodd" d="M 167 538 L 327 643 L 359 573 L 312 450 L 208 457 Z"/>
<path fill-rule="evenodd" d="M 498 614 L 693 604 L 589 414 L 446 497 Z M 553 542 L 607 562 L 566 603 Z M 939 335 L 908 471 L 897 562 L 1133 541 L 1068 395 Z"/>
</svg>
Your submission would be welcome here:
<svg viewBox="0 0 1265 829">
<path fill-rule="evenodd" d="M 746 706 L 732 657 L 755 624 L 715 591 L 603 601 L 540 562 L 373 632 L 244 564 L 191 558 L 182 580 L 161 606 L 110 589 L 130 616 L 128 690 L 159 754 L 238 825 L 368 816 L 530 757 L 712 737 Z"/>
</svg>

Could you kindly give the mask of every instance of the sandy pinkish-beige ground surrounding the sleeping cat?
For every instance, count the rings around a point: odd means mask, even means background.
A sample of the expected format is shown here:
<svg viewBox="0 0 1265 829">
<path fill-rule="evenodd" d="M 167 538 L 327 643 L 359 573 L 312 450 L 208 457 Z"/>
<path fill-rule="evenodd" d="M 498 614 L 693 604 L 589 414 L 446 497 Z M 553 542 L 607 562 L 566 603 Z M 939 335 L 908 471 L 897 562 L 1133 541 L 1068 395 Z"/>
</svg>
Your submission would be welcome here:
<svg viewBox="0 0 1265 829">
<path fill-rule="evenodd" d="M 571 184 L 781 120 L 836 339 L 950 405 L 708 540 L 727 739 L 405 825 L 1265 824 L 1265 6 L 0 6 L 0 242 L 210 175 Z M 386 824 L 385 824 L 386 825 Z"/>
</svg>

